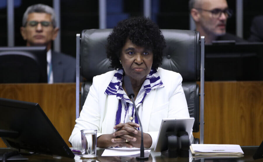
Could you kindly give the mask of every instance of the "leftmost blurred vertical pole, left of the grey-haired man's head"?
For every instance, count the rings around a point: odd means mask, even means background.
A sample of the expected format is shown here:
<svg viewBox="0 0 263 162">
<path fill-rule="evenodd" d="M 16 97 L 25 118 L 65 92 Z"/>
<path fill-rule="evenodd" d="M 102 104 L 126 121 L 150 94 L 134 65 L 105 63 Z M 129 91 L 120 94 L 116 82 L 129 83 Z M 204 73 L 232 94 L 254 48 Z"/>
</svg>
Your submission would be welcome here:
<svg viewBox="0 0 263 162">
<path fill-rule="evenodd" d="M 15 29 L 14 29 L 14 0 L 7 1 L 7 46 L 15 45 Z"/>
</svg>

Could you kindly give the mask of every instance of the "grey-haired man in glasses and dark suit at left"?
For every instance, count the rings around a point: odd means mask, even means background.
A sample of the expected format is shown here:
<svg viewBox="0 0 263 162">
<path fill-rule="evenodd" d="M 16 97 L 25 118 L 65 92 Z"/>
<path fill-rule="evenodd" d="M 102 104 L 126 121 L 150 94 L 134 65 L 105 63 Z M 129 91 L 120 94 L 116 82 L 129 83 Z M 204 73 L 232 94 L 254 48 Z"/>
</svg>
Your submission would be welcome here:
<svg viewBox="0 0 263 162">
<path fill-rule="evenodd" d="M 46 46 L 48 83 L 75 82 L 75 58 L 51 51 L 52 41 L 56 39 L 59 31 L 56 24 L 53 8 L 36 4 L 25 11 L 20 32 L 27 41 L 27 46 Z"/>
</svg>

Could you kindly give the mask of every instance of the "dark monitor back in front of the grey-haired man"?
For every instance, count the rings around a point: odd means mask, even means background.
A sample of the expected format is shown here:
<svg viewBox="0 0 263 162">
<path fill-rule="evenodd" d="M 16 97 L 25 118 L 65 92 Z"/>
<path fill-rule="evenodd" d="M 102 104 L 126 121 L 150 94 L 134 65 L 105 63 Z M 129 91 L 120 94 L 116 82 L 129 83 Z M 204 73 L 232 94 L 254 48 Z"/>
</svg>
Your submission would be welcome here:
<svg viewBox="0 0 263 162">
<path fill-rule="evenodd" d="M 0 47 L 0 83 L 46 83 L 46 47 Z"/>
</svg>

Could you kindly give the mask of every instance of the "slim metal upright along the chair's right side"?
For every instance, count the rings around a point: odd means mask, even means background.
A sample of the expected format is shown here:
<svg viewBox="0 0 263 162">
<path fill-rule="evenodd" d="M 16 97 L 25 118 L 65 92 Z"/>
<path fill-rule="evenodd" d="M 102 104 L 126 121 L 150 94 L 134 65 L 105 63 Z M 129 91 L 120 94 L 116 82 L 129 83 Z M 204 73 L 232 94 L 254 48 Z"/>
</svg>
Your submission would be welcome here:
<svg viewBox="0 0 263 162">
<path fill-rule="evenodd" d="M 204 144 L 204 97 L 205 97 L 205 36 L 201 36 L 200 69 L 200 144 Z"/>
</svg>

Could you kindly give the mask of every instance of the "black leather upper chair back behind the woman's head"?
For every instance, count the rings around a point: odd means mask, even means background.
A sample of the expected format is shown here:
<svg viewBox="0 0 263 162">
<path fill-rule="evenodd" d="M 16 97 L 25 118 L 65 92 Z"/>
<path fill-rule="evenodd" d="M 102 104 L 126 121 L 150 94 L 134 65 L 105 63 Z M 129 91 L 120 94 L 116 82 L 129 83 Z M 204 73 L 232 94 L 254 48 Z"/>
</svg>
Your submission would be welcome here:
<svg viewBox="0 0 263 162">
<path fill-rule="evenodd" d="M 112 29 L 83 30 L 80 42 L 80 73 L 88 81 L 109 68 L 106 48 Z M 160 67 L 179 72 L 184 81 L 200 79 L 200 34 L 191 30 L 161 29 L 166 40 Z"/>
</svg>

